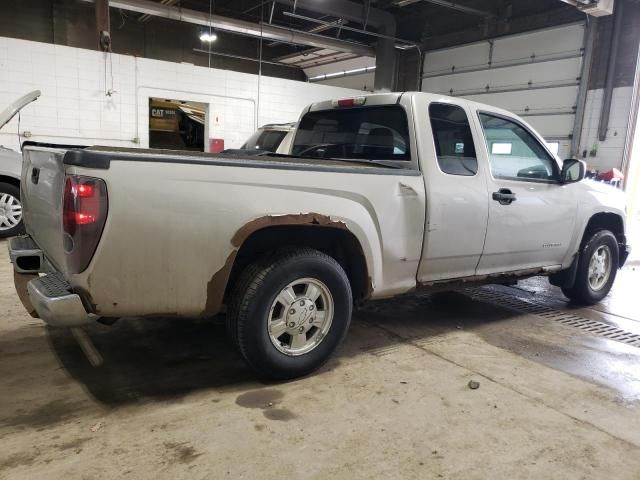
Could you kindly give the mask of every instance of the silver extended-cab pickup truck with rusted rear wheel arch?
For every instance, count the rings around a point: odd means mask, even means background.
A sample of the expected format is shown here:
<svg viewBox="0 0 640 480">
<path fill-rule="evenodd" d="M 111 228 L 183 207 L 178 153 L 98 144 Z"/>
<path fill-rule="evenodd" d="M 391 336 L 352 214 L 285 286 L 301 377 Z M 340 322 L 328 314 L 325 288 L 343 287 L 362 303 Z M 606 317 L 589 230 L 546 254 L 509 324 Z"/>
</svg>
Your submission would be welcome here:
<svg viewBox="0 0 640 480">
<path fill-rule="evenodd" d="M 627 257 L 625 206 L 513 114 L 426 93 L 316 103 L 291 155 L 24 149 L 25 307 L 56 326 L 226 312 L 262 376 L 318 368 L 354 303 L 549 275 L 580 303 Z"/>
</svg>

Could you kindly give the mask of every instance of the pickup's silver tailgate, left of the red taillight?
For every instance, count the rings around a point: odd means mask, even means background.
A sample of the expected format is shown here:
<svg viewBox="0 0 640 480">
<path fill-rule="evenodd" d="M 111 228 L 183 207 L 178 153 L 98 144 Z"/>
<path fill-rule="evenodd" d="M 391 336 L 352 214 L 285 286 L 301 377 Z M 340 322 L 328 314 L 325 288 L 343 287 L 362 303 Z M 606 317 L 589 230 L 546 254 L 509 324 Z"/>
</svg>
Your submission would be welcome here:
<svg viewBox="0 0 640 480">
<path fill-rule="evenodd" d="M 62 246 L 64 148 L 26 146 L 23 149 L 21 200 L 27 233 L 60 271 L 65 269 Z"/>
</svg>

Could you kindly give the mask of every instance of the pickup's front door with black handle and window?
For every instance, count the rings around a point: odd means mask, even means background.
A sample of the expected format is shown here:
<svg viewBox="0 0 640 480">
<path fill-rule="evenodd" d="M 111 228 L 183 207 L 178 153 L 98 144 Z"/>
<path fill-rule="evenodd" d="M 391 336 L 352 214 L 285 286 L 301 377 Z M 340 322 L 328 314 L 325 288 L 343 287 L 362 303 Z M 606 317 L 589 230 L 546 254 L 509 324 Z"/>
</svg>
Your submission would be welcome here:
<svg viewBox="0 0 640 480">
<path fill-rule="evenodd" d="M 512 117 L 474 116 L 484 142 L 489 223 L 477 274 L 560 265 L 571 242 L 577 199 L 559 181 L 543 140 Z"/>
</svg>

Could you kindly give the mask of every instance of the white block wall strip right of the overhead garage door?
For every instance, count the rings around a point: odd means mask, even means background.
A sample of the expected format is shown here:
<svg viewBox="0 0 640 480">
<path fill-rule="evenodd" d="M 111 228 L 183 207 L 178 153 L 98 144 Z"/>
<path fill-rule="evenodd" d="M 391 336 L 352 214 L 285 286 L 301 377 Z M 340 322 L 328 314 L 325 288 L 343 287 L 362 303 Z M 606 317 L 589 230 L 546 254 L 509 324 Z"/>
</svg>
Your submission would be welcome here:
<svg viewBox="0 0 640 480">
<path fill-rule="evenodd" d="M 580 158 L 582 158 L 583 150 L 587 151 L 587 157 L 584 160 L 589 165 L 589 168 L 607 171 L 612 167 L 620 168 L 622 164 L 633 87 L 613 89 L 609 130 L 607 131 L 607 139 L 604 142 L 598 139 L 602 93 L 602 89 L 589 90 L 587 93 L 579 152 Z M 598 153 L 595 157 L 591 157 L 589 152 L 594 147 L 597 147 Z"/>
</svg>

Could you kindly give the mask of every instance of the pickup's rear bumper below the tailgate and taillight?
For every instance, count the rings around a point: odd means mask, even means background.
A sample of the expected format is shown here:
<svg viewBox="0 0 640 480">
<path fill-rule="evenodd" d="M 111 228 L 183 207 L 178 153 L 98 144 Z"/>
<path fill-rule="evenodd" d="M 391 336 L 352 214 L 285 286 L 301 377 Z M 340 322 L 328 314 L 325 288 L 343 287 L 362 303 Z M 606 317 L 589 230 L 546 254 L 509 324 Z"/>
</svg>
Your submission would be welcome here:
<svg viewBox="0 0 640 480">
<path fill-rule="evenodd" d="M 31 237 L 10 239 L 9 258 L 16 292 L 29 314 L 54 327 L 77 327 L 98 318 L 87 313 L 80 296 L 53 270 Z"/>
</svg>

